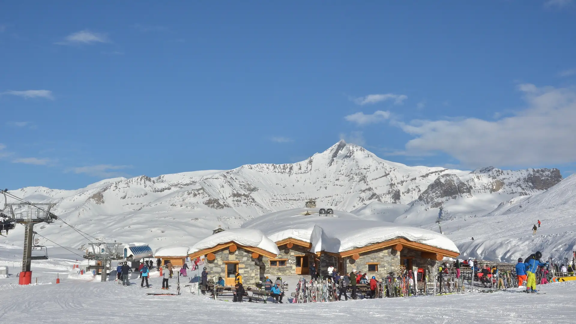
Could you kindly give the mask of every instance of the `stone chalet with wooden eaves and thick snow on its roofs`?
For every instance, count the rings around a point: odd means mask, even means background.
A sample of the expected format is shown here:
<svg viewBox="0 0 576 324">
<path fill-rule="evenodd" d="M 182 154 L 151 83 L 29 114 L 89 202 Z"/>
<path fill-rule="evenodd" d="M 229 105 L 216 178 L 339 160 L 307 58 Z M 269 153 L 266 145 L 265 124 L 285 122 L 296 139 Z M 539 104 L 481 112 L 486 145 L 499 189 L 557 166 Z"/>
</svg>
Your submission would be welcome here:
<svg viewBox="0 0 576 324">
<path fill-rule="evenodd" d="M 206 256 L 210 278 L 234 284 L 236 271 L 246 285 L 264 277 L 320 276 L 329 265 L 338 272 L 354 269 L 377 279 L 389 272 L 422 268 L 434 273 L 437 261 L 460 252 L 449 238 L 421 228 L 364 220 L 343 211 L 326 215 L 319 208 L 295 208 L 252 219 L 241 228 L 213 234 L 189 250 L 190 258 Z"/>
</svg>

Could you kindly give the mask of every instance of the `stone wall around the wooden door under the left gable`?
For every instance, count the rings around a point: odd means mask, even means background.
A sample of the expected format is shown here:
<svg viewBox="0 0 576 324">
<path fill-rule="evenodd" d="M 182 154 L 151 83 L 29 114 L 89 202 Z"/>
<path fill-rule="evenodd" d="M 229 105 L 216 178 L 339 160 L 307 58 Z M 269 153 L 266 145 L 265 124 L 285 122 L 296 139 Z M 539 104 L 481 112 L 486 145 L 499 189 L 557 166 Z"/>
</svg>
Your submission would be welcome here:
<svg viewBox="0 0 576 324">
<path fill-rule="evenodd" d="M 214 252 L 215 260 L 204 263 L 208 271 L 208 279 L 214 277 L 226 277 L 226 263 L 224 261 L 238 261 L 238 272 L 242 276 L 242 283 L 255 285 L 260 282 L 260 276 L 264 274 L 265 264 L 263 257 L 252 258 L 252 252 L 238 247 L 236 251 L 230 252 L 228 248 Z"/>
</svg>

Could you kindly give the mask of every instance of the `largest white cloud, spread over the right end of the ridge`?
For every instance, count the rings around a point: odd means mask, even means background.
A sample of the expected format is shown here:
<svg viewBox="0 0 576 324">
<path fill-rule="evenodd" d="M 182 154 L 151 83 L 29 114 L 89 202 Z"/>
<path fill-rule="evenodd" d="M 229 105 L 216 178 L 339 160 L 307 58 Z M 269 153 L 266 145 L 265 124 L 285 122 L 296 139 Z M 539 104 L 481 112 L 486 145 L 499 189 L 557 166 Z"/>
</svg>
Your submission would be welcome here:
<svg viewBox="0 0 576 324">
<path fill-rule="evenodd" d="M 527 108 L 496 121 L 393 123 L 415 139 L 405 154 L 443 152 L 465 166 L 535 166 L 576 161 L 576 89 L 522 84 Z"/>
</svg>

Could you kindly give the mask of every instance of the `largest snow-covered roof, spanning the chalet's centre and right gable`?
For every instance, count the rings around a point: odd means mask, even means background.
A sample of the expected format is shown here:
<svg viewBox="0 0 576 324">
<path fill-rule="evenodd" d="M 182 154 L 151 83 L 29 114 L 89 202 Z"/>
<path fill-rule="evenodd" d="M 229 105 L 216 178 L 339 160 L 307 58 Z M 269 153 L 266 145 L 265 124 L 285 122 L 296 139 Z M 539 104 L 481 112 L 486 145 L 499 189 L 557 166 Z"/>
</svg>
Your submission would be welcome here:
<svg viewBox="0 0 576 324">
<path fill-rule="evenodd" d="M 319 208 L 295 208 L 273 212 L 242 224 L 264 232 L 274 242 L 293 238 L 312 244 L 310 251 L 341 253 L 392 239 L 404 238 L 438 249 L 460 253 L 445 235 L 395 223 L 364 220 L 354 214 L 334 211 L 334 215 L 317 214 Z M 312 215 L 305 215 L 314 213 Z"/>
</svg>

